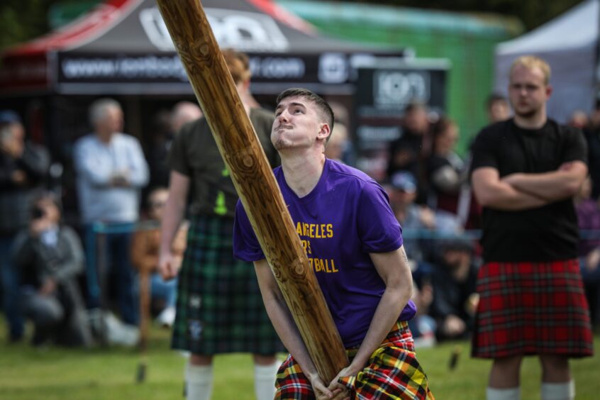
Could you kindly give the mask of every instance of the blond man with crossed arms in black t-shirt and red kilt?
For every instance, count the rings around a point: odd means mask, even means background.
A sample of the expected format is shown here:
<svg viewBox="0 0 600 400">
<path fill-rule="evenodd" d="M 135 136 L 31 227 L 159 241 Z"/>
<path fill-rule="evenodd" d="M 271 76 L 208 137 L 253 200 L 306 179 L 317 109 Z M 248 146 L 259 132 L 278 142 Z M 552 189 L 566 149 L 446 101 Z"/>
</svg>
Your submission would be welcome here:
<svg viewBox="0 0 600 400">
<path fill-rule="evenodd" d="M 592 354 L 572 202 L 587 175 L 586 144 L 546 116 L 549 79 L 538 57 L 513 62 L 514 118 L 484 128 L 473 147 L 484 265 L 472 352 L 494 360 L 489 400 L 519 399 L 524 355 L 540 357 L 543 400 L 573 399 L 568 358 Z"/>
</svg>

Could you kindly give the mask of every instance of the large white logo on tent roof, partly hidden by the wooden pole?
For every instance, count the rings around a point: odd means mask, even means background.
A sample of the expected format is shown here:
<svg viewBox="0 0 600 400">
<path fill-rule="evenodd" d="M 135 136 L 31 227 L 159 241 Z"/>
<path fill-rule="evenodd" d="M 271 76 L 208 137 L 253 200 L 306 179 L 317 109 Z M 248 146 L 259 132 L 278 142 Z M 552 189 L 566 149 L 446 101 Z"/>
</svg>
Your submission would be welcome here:
<svg viewBox="0 0 600 400">
<path fill-rule="evenodd" d="M 287 38 L 270 16 L 225 9 L 204 11 L 221 48 L 262 52 L 283 52 L 289 48 Z M 140 23 L 150 42 L 159 50 L 175 50 L 157 7 L 140 11 Z"/>
</svg>

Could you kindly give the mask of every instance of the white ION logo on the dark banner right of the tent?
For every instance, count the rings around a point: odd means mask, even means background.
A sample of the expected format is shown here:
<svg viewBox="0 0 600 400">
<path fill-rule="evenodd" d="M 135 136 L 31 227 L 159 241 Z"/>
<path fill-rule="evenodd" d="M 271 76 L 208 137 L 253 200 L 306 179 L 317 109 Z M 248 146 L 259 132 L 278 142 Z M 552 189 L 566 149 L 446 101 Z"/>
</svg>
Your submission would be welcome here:
<svg viewBox="0 0 600 400">
<path fill-rule="evenodd" d="M 411 101 L 428 103 L 429 83 L 429 74 L 424 71 L 377 71 L 373 75 L 374 104 L 403 109 Z"/>
</svg>

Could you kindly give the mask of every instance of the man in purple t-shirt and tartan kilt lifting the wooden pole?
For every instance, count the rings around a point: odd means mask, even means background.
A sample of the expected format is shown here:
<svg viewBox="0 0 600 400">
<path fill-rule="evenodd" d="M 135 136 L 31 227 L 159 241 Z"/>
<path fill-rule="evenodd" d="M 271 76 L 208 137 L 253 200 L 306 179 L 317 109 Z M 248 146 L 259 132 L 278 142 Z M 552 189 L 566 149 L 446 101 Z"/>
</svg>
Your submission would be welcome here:
<svg viewBox="0 0 600 400">
<path fill-rule="evenodd" d="M 290 355 L 279 367 L 276 399 L 328 399 L 343 389 L 378 399 L 433 399 L 406 321 L 411 272 L 387 194 L 366 174 L 323 154 L 330 106 L 306 89 L 279 95 L 271 141 L 274 170 L 351 363 L 332 382 L 316 372 L 243 206 L 233 248 L 253 261 L 267 313 Z"/>
</svg>

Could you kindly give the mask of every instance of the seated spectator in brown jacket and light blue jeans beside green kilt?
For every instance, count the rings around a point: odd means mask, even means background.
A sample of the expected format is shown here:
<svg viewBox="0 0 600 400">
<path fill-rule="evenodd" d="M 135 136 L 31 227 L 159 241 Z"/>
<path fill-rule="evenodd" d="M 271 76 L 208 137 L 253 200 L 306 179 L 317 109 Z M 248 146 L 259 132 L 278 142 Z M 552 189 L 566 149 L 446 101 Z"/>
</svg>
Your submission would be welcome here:
<svg viewBox="0 0 600 400">
<path fill-rule="evenodd" d="M 135 232 L 131 244 L 131 262 L 140 274 L 150 273 L 150 293 L 152 303 L 161 302 L 162 308 L 157 316 L 157 323 L 162 326 L 172 326 L 175 319 L 175 301 L 177 296 L 177 278 L 164 281 L 158 273 L 158 249 L 160 245 L 160 221 L 169 191 L 166 188 L 157 188 L 148 195 L 147 223 L 154 223 Z M 173 241 L 172 251 L 181 262 L 186 246 L 187 226 L 179 228 Z M 143 288 L 140 288 L 143 290 Z"/>
</svg>

